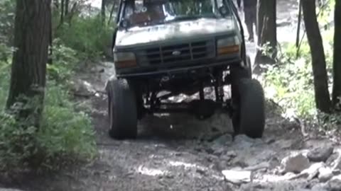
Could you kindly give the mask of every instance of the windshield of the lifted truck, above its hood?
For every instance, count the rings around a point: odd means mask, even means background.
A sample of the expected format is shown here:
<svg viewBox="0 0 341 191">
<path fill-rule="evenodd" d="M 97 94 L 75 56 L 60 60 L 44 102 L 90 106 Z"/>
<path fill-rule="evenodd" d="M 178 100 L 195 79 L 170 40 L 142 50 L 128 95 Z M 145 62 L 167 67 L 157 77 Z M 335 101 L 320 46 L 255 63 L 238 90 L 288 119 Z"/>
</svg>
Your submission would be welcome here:
<svg viewBox="0 0 341 191">
<path fill-rule="evenodd" d="M 198 18 L 222 18 L 231 11 L 224 0 L 127 0 L 121 18 L 129 27 Z"/>
</svg>

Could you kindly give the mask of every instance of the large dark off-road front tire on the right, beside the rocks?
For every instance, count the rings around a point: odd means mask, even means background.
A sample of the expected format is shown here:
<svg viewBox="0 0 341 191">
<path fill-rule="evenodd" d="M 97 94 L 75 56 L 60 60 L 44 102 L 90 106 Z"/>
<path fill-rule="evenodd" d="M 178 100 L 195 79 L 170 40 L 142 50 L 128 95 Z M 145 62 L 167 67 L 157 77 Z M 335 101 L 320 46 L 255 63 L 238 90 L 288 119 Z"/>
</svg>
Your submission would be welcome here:
<svg viewBox="0 0 341 191">
<path fill-rule="evenodd" d="M 265 100 L 261 83 L 255 79 L 240 79 L 235 94 L 238 96 L 234 98 L 237 107 L 232 115 L 235 134 L 261 138 L 265 125 Z"/>
</svg>

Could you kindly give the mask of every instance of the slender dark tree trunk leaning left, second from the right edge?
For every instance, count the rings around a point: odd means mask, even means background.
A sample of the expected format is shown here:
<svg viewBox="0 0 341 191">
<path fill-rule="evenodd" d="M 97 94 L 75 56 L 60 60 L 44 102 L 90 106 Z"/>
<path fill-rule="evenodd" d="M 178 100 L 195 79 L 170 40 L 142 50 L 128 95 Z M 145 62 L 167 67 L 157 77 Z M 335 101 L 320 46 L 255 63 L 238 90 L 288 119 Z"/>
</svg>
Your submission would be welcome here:
<svg viewBox="0 0 341 191">
<path fill-rule="evenodd" d="M 318 28 L 318 20 L 316 17 L 315 1 L 303 0 L 303 20 L 305 30 L 307 31 L 308 43 L 310 46 L 316 108 L 323 112 L 330 112 L 331 102 L 328 90 L 328 75 L 325 64 L 325 52 L 323 49 L 323 41 Z"/>
</svg>

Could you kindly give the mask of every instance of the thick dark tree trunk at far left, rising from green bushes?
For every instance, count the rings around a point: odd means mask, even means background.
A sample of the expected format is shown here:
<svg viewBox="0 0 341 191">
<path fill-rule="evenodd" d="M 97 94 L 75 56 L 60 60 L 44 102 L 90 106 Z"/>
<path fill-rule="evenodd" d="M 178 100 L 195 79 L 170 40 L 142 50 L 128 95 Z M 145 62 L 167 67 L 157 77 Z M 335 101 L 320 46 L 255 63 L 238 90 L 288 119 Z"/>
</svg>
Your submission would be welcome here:
<svg viewBox="0 0 341 191">
<path fill-rule="evenodd" d="M 43 110 L 45 94 L 46 62 L 48 61 L 48 44 L 50 40 L 51 0 L 16 1 L 16 19 L 14 46 L 11 66 L 11 86 L 6 103 L 13 109 L 16 103 L 24 107 L 16 108 L 19 119 L 33 121 L 38 127 Z M 26 104 L 31 100 L 37 102 Z M 18 110 L 17 110 L 18 109 Z"/>
</svg>

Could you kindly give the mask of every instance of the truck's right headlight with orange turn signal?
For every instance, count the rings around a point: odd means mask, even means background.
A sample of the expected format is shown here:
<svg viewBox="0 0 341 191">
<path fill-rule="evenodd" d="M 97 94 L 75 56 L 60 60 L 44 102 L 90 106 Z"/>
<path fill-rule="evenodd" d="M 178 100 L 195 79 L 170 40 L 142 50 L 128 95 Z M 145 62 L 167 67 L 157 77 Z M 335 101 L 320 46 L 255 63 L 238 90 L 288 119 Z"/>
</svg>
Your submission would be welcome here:
<svg viewBox="0 0 341 191">
<path fill-rule="evenodd" d="M 237 36 L 217 40 L 217 54 L 235 54 L 239 52 L 239 39 Z"/>
</svg>

